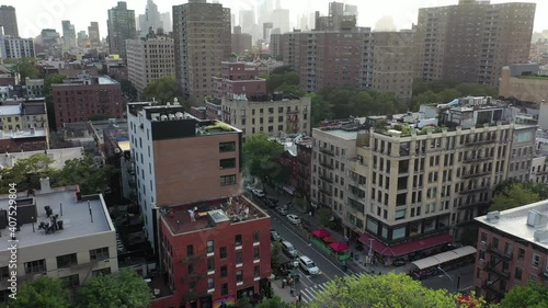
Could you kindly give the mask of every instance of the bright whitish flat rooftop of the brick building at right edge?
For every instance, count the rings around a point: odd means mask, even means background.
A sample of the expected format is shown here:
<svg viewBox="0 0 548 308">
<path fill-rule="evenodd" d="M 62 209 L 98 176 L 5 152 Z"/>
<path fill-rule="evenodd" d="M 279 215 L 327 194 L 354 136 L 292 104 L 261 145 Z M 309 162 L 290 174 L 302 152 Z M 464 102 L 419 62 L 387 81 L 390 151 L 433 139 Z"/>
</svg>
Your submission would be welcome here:
<svg viewBox="0 0 548 308">
<path fill-rule="evenodd" d="M 548 249 L 548 199 L 475 218 L 500 232 Z"/>
</svg>

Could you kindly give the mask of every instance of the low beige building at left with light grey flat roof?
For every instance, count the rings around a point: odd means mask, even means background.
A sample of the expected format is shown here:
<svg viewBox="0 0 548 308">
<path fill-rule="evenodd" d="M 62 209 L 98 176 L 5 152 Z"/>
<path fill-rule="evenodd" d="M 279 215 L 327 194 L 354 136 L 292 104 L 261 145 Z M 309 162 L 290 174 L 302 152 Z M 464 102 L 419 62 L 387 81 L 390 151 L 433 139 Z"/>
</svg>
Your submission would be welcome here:
<svg viewBox="0 0 548 308">
<path fill-rule="evenodd" d="M 0 196 L 0 229 L 8 236 L 8 195 Z M 11 203 L 10 203 L 11 204 Z M 50 187 L 41 179 L 41 190 L 18 193 L 18 285 L 41 275 L 85 284 L 92 276 L 118 271 L 116 229 L 102 195 L 82 197 L 78 186 Z M 0 294 L 8 289 L 10 243 L 0 246 Z M 10 267 L 11 269 L 11 267 Z"/>
</svg>

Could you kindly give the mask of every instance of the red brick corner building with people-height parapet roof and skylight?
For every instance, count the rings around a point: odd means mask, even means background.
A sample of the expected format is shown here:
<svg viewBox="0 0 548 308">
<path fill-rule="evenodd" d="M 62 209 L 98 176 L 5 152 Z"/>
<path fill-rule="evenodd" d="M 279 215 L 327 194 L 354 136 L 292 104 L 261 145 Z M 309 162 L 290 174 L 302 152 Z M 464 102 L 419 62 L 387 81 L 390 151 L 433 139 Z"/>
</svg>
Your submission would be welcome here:
<svg viewBox="0 0 548 308">
<path fill-rule="evenodd" d="M 219 307 L 270 288 L 271 221 L 249 199 L 205 201 L 160 213 L 160 259 L 172 294 L 153 300 L 153 308 Z"/>
</svg>

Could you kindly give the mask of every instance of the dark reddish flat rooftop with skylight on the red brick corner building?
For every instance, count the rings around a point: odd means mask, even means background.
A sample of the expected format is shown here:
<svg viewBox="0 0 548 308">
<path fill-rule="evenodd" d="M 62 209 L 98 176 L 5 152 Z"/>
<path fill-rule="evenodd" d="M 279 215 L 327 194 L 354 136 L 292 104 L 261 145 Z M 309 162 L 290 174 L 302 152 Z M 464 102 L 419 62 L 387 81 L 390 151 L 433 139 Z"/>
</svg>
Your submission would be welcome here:
<svg viewBox="0 0 548 308">
<path fill-rule="evenodd" d="M 194 213 L 194 221 L 191 219 L 191 212 Z M 174 235 L 215 228 L 217 224 L 226 221 L 241 224 L 269 217 L 243 195 L 171 207 L 165 206 L 162 207 L 160 213 Z"/>
</svg>

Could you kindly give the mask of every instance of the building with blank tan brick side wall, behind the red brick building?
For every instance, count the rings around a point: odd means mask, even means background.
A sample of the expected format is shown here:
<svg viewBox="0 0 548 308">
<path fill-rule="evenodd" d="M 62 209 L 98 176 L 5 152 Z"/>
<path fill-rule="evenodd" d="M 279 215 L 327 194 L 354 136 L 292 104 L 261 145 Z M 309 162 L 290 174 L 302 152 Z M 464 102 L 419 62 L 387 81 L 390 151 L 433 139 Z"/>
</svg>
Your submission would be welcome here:
<svg viewBox="0 0 548 308">
<path fill-rule="evenodd" d="M 129 147 L 145 233 L 158 253 L 159 208 L 241 192 L 241 130 L 184 107 L 129 103 Z"/>
</svg>

